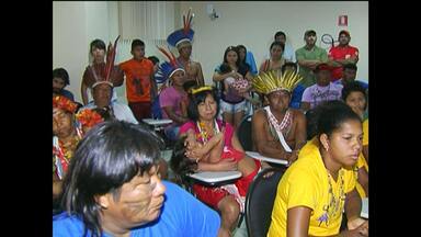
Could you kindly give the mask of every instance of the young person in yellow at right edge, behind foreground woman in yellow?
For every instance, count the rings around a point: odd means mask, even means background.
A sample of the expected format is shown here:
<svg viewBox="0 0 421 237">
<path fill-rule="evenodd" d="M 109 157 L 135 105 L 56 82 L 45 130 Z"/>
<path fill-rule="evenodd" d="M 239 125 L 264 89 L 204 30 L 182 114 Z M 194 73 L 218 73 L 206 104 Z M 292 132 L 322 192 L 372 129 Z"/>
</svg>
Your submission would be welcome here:
<svg viewBox="0 0 421 237">
<path fill-rule="evenodd" d="M 368 116 L 366 116 L 367 95 L 364 87 L 352 81 L 342 89 L 342 100 L 360 116 L 363 121 L 363 153 L 359 157 L 359 182 L 356 190 L 362 198 L 368 196 Z"/>
</svg>

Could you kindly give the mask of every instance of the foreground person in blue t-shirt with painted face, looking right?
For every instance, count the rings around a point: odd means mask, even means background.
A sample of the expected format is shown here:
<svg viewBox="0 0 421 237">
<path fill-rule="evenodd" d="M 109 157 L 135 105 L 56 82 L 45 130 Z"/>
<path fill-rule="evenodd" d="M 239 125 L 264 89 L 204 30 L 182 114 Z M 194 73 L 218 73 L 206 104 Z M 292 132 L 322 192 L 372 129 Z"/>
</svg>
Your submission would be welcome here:
<svg viewBox="0 0 421 237">
<path fill-rule="evenodd" d="M 159 140 L 126 122 L 99 124 L 81 140 L 65 180 L 67 212 L 53 236 L 217 236 L 220 218 L 157 176 Z"/>
</svg>

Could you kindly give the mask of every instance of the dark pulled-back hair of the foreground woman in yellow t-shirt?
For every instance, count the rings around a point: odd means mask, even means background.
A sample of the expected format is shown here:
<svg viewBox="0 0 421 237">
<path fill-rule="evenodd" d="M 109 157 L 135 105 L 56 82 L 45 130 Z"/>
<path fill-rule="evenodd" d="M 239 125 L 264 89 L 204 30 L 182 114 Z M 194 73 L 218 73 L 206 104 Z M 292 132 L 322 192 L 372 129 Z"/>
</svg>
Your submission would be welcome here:
<svg viewBox="0 0 421 237">
<path fill-rule="evenodd" d="M 312 129 L 316 132 L 318 138 L 320 135 L 326 134 L 330 136 L 335 129 L 350 120 L 360 121 L 360 116 L 343 101 L 327 101 L 315 108 L 312 115 L 316 127 Z"/>
</svg>

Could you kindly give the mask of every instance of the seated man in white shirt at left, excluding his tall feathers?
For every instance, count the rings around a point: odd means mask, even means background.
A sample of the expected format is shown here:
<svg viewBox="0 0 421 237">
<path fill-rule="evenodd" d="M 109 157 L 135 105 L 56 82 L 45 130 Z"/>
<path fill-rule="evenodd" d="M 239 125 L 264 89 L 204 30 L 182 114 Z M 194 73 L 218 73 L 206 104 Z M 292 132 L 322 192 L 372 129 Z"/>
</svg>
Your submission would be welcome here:
<svg viewBox="0 0 421 237">
<path fill-rule="evenodd" d="M 138 124 L 136 117 L 133 115 L 130 108 L 124 103 L 120 103 L 116 99 L 112 100 L 113 83 L 109 81 L 99 81 L 92 86 L 93 101 L 89 102 L 84 109 L 104 109 L 107 110 L 112 117 L 120 121 Z"/>
</svg>

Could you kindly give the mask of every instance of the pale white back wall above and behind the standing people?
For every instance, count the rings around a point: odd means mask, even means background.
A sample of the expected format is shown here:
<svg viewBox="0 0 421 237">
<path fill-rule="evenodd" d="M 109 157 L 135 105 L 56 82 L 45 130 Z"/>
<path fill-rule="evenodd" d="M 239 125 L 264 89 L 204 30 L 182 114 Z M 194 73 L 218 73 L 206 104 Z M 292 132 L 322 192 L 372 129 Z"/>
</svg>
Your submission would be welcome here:
<svg viewBox="0 0 421 237">
<path fill-rule="evenodd" d="M 206 4 L 212 3 L 220 18 L 210 21 Z M 89 63 L 89 44 L 101 38 L 106 44 L 118 35 L 118 7 L 115 1 L 53 2 L 53 68 L 64 67 L 70 75 L 70 86 L 76 100 L 81 101 L 80 82 Z M 338 15 L 348 14 L 351 45 L 359 47 L 357 77 L 368 79 L 368 2 L 174 2 L 174 24 L 182 27 L 182 13 L 193 9 L 195 31 L 193 59 L 202 64 L 207 83 L 217 64 L 221 63 L 224 50 L 229 45 L 243 44 L 253 52 L 258 66 L 269 54 L 276 31 L 287 34 L 287 43 L 295 49 L 304 45 L 303 34 L 308 29 L 318 33 L 318 45 L 325 33 L 337 37 L 340 30 Z M 171 32 L 168 32 L 170 34 Z M 139 36 L 140 40 L 144 40 Z M 146 55 L 156 55 L 156 42 L 145 41 Z M 160 44 L 158 42 L 158 44 Z M 117 46 L 116 63 L 129 59 L 130 42 Z M 116 89 L 125 101 L 125 87 Z"/>
</svg>

